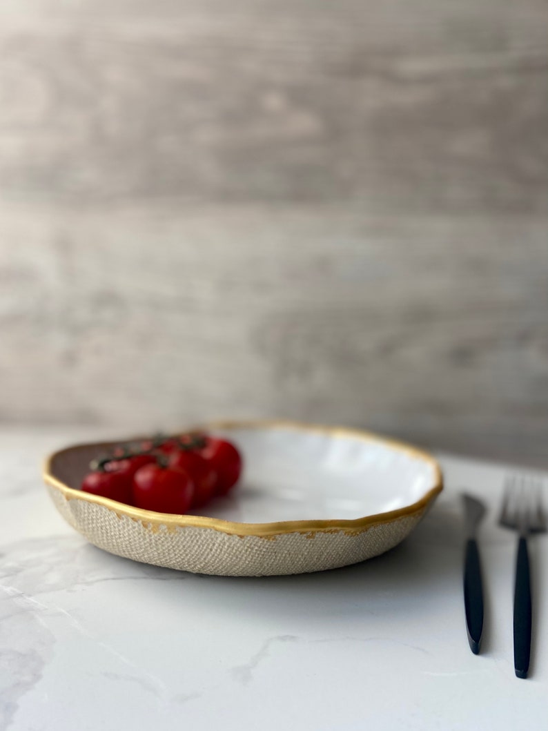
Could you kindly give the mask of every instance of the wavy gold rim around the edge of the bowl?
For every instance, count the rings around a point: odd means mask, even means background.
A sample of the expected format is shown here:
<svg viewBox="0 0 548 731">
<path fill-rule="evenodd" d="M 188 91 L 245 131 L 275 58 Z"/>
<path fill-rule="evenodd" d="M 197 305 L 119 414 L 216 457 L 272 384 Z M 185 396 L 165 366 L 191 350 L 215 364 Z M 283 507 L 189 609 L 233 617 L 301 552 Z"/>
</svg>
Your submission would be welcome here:
<svg viewBox="0 0 548 731">
<path fill-rule="evenodd" d="M 232 520 L 222 520 L 221 518 L 206 518 L 201 515 L 172 515 L 169 513 L 152 512 L 151 510 L 142 510 L 141 508 L 132 507 L 119 503 L 115 500 L 102 498 L 92 495 L 91 493 L 83 493 L 75 488 L 69 488 L 64 482 L 58 480 L 52 474 L 53 461 L 61 455 L 68 452 L 80 450 L 83 447 L 93 447 L 94 443 L 75 444 L 72 447 L 66 447 L 64 450 L 58 450 L 50 454 L 44 465 L 42 477 L 47 485 L 60 491 L 67 500 L 83 500 L 86 502 L 96 503 L 113 510 L 116 515 L 126 515 L 132 520 L 138 520 L 145 526 L 167 526 L 168 529 L 176 528 L 208 528 L 221 533 L 227 533 L 237 536 L 276 536 L 283 533 L 317 533 L 320 531 L 345 531 L 349 533 L 361 533 L 371 526 L 379 523 L 390 523 L 400 518 L 408 518 L 411 515 L 423 512 L 427 505 L 430 504 L 435 496 L 443 489 L 443 476 L 441 468 L 435 459 L 427 452 L 411 447 L 410 444 L 397 442 L 394 439 L 387 439 L 382 436 L 362 431 L 359 429 L 330 427 L 321 425 L 311 425 L 294 421 L 283 420 L 232 420 L 232 421 L 215 421 L 207 425 L 201 425 L 195 428 L 205 428 L 210 430 L 230 431 L 232 429 L 294 429 L 295 431 L 312 431 L 317 433 L 329 434 L 335 438 L 353 438 L 361 439 L 363 442 L 376 442 L 378 444 L 387 444 L 393 449 L 404 452 L 405 454 L 428 463 L 434 469 L 434 485 L 420 500 L 398 510 L 390 510 L 389 512 L 381 512 L 376 515 L 366 515 L 364 518 L 355 518 L 354 520 L 282 520 L 277 523 L 234 523 Z M 132 440 L 128 440 L 132 441 Z M 109 444 L 118 444 L 119 442 L 98 442 L 97 447 L 106 447 Z"/>
</svg>

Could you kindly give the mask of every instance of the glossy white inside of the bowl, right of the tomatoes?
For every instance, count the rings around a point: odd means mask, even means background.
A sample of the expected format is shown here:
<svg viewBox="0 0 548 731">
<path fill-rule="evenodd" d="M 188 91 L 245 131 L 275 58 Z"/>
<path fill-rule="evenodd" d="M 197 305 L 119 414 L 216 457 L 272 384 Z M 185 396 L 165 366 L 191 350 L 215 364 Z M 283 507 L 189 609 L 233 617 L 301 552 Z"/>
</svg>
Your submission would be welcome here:
<svg viewBox="0 0 548 731">
<path fill-rule="evenodd" d="M 438 480 L 435 463 L 383 440 L 290 427 L 216 433 L 240 447 L 246 468 L 231 498 L 205 508 L 213 518 L 357 520 L 409 507 Z"/>
</svg>

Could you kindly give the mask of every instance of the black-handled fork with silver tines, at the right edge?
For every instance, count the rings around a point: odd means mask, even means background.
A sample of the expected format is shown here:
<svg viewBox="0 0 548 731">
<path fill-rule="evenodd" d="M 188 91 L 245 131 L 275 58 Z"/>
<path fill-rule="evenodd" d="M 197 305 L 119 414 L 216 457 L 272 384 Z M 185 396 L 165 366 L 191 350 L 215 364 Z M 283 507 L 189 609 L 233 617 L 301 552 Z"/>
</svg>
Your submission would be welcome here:
<svg viewBox="0 0 548 731">
<path fill-rule="evenodd" d="M 530 477 L 507 477 L 504 483 L 499 525 L 518 531 L 514 587 L 514 670 L 527 678 L 531 648 L 531 583 L 527 540 L 547 529 L 541 500 L 541 481 Z"/>
</svg>

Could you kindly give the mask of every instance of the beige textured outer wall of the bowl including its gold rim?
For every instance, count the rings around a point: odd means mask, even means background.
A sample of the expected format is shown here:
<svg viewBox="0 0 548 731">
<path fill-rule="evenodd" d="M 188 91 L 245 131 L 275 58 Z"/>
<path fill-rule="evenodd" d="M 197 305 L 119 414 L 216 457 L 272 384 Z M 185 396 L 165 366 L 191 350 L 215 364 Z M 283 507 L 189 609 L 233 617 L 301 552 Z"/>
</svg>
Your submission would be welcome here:
<svg viewBox="0 0 548 731">
<path fill-rule="evenodd" d="M 266 428 L 275 428 L 275 424 Z M 61 515 L 89 542 L 116 556 L 202 574 L 299 574 L 373 558 L 394 548 L 414 529 L 442 487 L 438 470 L 437 483 L 421 501 L 402 510 L 360 520 L 251 524 L 168 516 L 81 493 L 53 474 L 52 466 L 64 456 L 68 461 L 74 460 L 78 458 L 78 450 L 87 453 L 102 446 L 72 447 L 57 452 L 47 461 L 45 482 Z M 428 455 L 424 458 L 434 463 Z"/>
</svg>

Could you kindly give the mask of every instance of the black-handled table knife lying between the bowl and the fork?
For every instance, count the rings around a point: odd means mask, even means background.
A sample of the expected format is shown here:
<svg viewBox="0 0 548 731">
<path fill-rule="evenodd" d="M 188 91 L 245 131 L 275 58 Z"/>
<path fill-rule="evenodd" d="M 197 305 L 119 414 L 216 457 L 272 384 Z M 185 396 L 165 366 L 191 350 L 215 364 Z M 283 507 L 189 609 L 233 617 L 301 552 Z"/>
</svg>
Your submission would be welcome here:
<svg viewBox="0 0 548 731">
<path fill-rule="evenodd" d="M 479 523 L 485 515 L 484 504 L 471 495 L 463 494 L 466 546 L 464 553 L 464 608 L 468 643 L 474 655 L 479 654 L 483 632 L 482 565 L 476 540 Z"/>
</svg>

